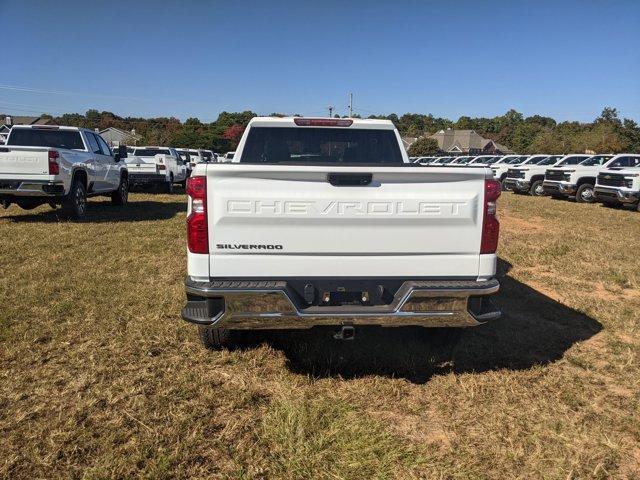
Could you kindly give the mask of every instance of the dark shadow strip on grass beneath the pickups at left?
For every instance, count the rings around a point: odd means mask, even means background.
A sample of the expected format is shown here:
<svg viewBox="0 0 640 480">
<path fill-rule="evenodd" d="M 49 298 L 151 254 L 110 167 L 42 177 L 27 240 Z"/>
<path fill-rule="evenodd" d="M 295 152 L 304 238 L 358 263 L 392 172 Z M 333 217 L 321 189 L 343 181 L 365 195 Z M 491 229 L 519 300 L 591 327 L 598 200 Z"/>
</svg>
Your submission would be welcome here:
<svg viewBox="0 0 640 480">
<path fill-rule="evenodd" d="M 176 199 L 179 198 L 175 195 Z M 17 206 L 10 208 L 18 209 Z M 24 210 L 21 210 L 24 211 Z M 149 200 L 130 200 L 123 207 L 111 205 L 110 201 L 96 201 L 89 199 L 87 213 L 82 220 L 71 220 L 76 223 L 103 223 L 103 222 L 143 222 L 149 220 L 168 220 L 179 212 L 187 211 L 187 202 L 154 202 Z M 60 209 L 51 209 L 45 212 L 29 212 L 21 215 L 7 216 L 12 222 L 23 223 L 57 223 L 70 221 L 61 214 Z"/>
</svg>

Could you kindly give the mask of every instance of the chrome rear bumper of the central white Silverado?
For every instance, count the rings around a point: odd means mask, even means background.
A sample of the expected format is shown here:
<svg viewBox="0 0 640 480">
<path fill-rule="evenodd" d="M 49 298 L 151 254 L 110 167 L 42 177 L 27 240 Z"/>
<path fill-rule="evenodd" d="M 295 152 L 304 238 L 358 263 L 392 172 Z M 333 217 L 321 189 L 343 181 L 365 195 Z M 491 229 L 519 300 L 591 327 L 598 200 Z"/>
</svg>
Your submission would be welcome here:
<svg viewBox="0 0 640 480">
<path fill-rule="evenodd" d="M 492 279 L 406 281 L 388 305 L 303 307 L 284 281 L 195 282 L 187 278 L 182 318 L 236 329 L 310 328 L 316 325 L 468 327 L 500 317 L 486 298 L 498 291 Z"/>
</svg>

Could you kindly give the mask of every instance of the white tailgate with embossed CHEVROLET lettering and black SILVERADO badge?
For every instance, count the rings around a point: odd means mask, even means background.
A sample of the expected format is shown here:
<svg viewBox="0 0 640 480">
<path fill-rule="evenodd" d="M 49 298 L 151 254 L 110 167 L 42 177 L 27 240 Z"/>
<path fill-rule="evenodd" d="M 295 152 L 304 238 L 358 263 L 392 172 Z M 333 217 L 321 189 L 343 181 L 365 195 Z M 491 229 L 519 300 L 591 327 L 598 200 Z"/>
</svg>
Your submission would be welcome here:
<svg viewBox="0 0 640 480">
<path fill-rule="evenodd" d="M 336 186 L 330 174 L 371 174 Z M 207 166 L 212 277 L 478 274 L 484 168 Z"/>
</svg>

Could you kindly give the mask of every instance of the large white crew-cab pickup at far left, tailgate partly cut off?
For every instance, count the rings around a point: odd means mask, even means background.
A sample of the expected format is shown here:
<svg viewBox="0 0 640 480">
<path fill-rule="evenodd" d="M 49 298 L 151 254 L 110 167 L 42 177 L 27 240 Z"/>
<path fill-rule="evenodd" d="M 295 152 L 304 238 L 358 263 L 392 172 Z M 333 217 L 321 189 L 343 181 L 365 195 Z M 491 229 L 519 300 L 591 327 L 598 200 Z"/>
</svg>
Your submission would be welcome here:
<svg viewBox="0 0 640 480">
<path fill-rule="evenodd" d="M 127 203 L 128 172 L 122 147 L 113 153 L 97 133 L 76 127 L 14 126 L 0 147 L 0 203 L 25 210 L 62 206 L 71 218 L 82 217 L 87 197 L 109 195 Z"/>
</svg>

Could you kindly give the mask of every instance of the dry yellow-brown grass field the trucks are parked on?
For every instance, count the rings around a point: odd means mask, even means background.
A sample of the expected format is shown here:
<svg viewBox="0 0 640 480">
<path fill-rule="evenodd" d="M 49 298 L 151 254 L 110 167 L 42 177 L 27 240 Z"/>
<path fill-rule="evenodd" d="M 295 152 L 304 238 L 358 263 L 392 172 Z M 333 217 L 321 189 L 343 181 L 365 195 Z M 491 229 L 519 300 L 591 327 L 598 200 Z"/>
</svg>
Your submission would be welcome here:
<svg viewBox="0 0 640 480">
<path fill-rule="evenodd" d="M 505 315 L 432 362 L 416 329 L 204 350 L 185 197 L 130 201 L 0 212 L 4 478 L 640 478 L 640 214 L 503 195 Z"/>
</svg>

